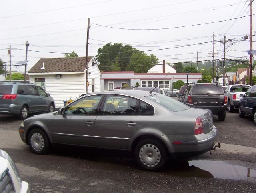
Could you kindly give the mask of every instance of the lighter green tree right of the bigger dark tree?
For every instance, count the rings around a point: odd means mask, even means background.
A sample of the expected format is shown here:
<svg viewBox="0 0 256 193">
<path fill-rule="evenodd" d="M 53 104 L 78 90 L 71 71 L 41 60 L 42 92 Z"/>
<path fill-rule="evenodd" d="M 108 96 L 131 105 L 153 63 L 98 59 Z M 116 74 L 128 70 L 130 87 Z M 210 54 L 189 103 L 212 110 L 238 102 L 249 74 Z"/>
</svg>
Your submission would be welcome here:
<svg viewBox="0 0 256 193">
<path fill-rule="evenodd" d="M 154 54 L 148 56 L 145 52 L 134 52 L 130 58 L 126 71 L 135 73 L 147 73 L 152 66 L 158 63 L 158 58 Z"/>
</svg>

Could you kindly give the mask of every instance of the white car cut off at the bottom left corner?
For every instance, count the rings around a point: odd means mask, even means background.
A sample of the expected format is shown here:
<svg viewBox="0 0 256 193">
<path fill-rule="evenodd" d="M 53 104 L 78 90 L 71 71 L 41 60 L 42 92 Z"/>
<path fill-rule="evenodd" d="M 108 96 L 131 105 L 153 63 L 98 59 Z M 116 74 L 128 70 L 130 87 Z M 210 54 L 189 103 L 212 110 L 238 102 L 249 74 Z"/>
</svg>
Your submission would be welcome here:
<svg viewBox="0 0 256 193">
<path fill-rule="evenodd" d="M 0 149 L 0 192 L 29 193 L 28 183 L 22 181 L 8 153 Z"/>
</svg>

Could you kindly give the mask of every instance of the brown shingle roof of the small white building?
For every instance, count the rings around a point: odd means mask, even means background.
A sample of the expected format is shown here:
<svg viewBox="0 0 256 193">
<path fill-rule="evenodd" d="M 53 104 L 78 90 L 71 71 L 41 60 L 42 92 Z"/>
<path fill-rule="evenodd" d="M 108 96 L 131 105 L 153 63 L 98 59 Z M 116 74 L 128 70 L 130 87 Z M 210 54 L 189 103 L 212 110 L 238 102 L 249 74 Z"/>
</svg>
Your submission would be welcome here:
<svg viewBox="0 0 256 193">
<path fill-rule="evenodd" d="M 88 57 L 88 62 L 92 57 Z M 44 69 L 43 67 L 44 62 Z M 44 72 L 76 72 L 84 71 L 86 68 L 86 57 L 73 58 L 41 58 L 28 71 L 28 73 L 44 73 Z"/>
</svg>

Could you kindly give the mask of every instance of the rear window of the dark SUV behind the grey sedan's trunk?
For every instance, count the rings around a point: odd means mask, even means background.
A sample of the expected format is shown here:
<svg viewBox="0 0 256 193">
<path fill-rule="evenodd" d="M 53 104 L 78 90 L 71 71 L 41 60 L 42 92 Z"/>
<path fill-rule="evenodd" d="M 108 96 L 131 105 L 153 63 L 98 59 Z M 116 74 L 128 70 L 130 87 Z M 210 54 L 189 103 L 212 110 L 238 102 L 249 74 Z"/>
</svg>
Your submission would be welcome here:
<svg viewBox="0 0 256 193">
<path fill-rule="evenodd" d="M 192 94 L 224 94 L 223 89 L 219 85 L 196 84 L 193 86 Z"/>
</svg>

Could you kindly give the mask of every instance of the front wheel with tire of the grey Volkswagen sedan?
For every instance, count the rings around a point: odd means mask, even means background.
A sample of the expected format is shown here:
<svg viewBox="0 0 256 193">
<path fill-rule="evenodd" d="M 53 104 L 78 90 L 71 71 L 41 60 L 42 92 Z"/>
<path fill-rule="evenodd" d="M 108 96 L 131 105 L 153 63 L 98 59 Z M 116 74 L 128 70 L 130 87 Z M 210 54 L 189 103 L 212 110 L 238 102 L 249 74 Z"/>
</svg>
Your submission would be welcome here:
<svg viewBox="0 0 256 193">
<path fill-rule="evenodd" d="M 44 131 L 33 129 L 28 135 L 28 145 L 33 153 L 46 154 L 50 151 L 50 141 Z"/>
</svg>

